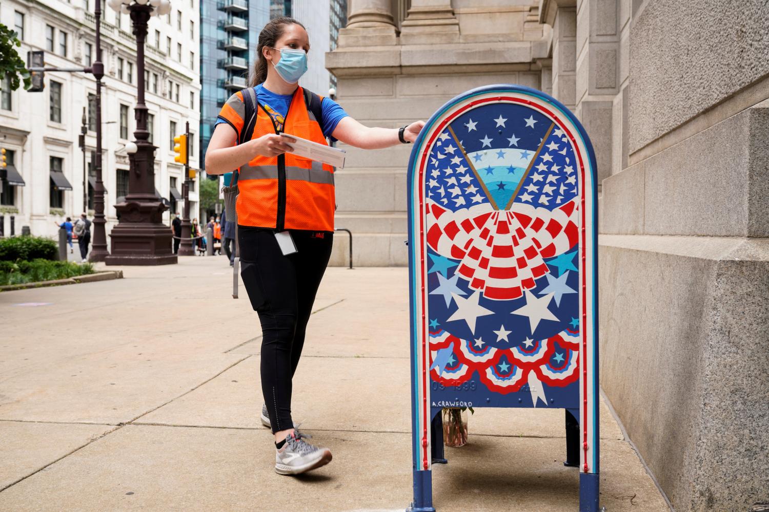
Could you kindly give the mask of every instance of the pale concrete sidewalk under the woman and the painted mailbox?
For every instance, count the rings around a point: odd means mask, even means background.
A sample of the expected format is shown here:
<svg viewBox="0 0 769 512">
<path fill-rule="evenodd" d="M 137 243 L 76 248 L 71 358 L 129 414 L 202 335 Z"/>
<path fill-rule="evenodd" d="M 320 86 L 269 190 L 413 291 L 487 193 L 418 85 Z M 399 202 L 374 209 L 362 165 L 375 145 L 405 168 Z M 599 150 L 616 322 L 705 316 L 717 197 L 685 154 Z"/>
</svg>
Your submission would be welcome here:
<svg viewBox="0 0 769 512">
<path fill-rule="evenodd" d="M 0 510 L 408 506 L 407 269 L 328 269 L 293 411 L 334 460 L 283 477 L 258 419 L 258 318 L 242 286 L 231 299 L 227 260 L 119 268 L 125 279 L 0 293 Z M 578 510 L 563 423 L 560 410 L 476 411 L 469 444 L 434 466 L 439 512 Z M 669 510 L 605 405 L 601 437 L 601 505 Z"/>
</svg>

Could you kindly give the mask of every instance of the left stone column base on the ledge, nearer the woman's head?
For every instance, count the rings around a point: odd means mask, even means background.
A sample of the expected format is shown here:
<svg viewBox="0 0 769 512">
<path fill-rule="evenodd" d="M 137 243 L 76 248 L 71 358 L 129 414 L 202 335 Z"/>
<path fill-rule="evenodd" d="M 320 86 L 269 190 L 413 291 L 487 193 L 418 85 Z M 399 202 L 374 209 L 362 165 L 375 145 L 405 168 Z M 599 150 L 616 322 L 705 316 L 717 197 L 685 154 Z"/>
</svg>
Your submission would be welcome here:
<svg viewBox="0 0 769 512">
<path fill-rule="evenodd" d="M 395 45 L 398 35 L 389 0 L 350 0 L 347 27 L 339 31 L 338 45 Z"/>
</svg>

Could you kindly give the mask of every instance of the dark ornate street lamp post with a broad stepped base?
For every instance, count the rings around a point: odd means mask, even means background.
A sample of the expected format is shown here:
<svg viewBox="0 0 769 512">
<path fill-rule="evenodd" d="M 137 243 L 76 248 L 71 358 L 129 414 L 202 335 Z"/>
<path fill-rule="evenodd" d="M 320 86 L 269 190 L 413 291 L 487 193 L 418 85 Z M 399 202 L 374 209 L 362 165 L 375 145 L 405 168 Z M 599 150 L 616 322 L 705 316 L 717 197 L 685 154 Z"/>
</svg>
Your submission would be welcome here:
<svg viewBox="0 0 769 512">
<path fill-rule="evenodd" d="M 98 2 L 97 2 L 98 3 Z M 136 36 L 138 74 L 135 150 L 128 155 L 130 171 L 125 201 L 115 205 L 120 222 L 112 229 L 112 254 L 108 265 L 163 265 L 177 263 L 171 249 L 171 232 L 162 222 L 166 206 L 155 196 L 155 146 L 149 142 L 145 105 L 145 39 L 151 16 L 171 11 L 168 0 L 109 0 L 110 8 L 131 16 Z M 98 19 L 98 18 L 97 18 Z M 97 93 L 98 94 L 98 93 Z M 133 149 L 133 147 L 131 147 Z M 98 148 L 97 148 L 98 151 Z"/>
</svg>

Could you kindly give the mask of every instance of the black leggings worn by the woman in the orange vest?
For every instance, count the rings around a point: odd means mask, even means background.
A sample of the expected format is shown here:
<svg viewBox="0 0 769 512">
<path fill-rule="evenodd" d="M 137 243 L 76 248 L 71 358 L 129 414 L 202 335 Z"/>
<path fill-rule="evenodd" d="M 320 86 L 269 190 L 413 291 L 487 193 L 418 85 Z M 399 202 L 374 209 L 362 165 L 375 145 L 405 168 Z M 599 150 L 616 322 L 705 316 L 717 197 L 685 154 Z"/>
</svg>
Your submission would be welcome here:
<svg viewBox="0 0 769 512">
<path fill-rule="evenodd" d="M 291 378 L 334 239 L 315 231 L 291 230 L 291 236 L 298 252 L 283 256 L 273 230 L 238 226 L 241 277 L 261 322 L 261 392 L 273 432 L 294 424 Z"/>
</svg>

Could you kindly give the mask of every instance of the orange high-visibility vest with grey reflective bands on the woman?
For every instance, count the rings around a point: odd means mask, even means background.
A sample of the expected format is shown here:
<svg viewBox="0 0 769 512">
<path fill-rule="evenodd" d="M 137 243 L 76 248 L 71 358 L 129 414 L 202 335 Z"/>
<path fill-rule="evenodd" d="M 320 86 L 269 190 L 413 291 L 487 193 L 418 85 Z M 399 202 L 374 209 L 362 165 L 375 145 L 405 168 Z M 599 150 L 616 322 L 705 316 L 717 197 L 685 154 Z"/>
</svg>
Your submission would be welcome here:
<svg viewBox="0 0 769 512">
<path fill-rule="evenodd" d="M 258 104 L 253 88 L 256 122 L 251 139 L 280 133 L 265 107 Z M 242 130 L 248 120 L 243 120 Z M 305 103 L 305 94 L 297 87 L 283 132 L 328 145 L 321 125 Z M 282 230 L 334 231 L 334 167 L 295 154 L 278 157 L 258 156 L 238 170 L 238 224 Z"/>
</svg>

